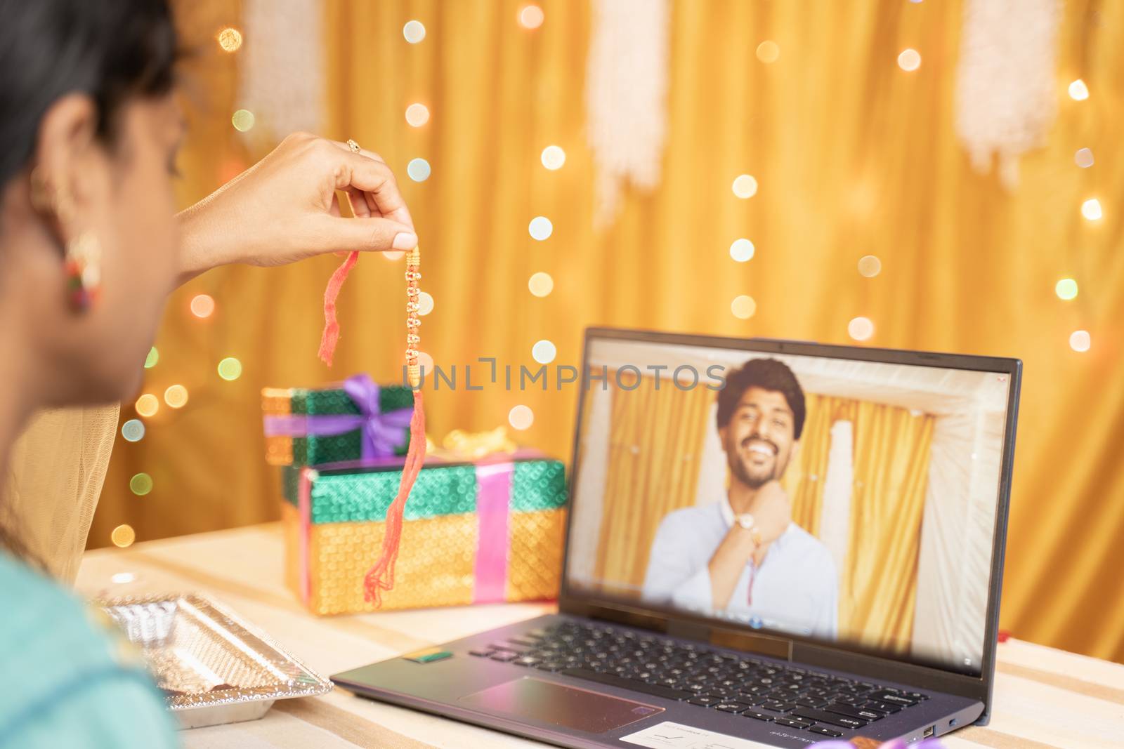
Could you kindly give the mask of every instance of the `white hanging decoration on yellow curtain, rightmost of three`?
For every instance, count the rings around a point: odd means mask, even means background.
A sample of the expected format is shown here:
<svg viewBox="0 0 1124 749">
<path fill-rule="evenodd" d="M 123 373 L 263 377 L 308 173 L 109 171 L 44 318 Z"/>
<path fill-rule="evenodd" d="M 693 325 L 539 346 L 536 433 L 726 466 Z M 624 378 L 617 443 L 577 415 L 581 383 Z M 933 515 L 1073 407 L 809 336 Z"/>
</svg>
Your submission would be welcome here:
<svg viewBox="0 0 1124 749">
<path fill-rule="evenodd" d="M 1058 110 L 1059 0 L 966 0 L 957 72 L 957 135 L 972 167 L 1018 184 L 1018 158 L 1045 144 Z"/>
</svg>

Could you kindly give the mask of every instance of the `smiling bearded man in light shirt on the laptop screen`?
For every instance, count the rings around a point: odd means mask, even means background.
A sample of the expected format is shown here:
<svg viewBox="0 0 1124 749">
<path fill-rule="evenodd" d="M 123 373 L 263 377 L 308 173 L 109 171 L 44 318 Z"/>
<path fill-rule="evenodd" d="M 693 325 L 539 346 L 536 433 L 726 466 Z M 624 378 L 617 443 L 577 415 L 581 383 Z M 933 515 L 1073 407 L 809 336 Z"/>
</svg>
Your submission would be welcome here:
<svg viewBox="0 0 1124 749">
<path fill-rule="evenodd" d="M 718 393 L 718 438 L 729 465 L 726 496 L 672 512 L 656 531 L 643 597 L 724 611 L 835 639 L 835 563 L 791 520 L 780 486 L 804 430 L 804 390 L 777 359 L 751 359 Z"/>
</svg>

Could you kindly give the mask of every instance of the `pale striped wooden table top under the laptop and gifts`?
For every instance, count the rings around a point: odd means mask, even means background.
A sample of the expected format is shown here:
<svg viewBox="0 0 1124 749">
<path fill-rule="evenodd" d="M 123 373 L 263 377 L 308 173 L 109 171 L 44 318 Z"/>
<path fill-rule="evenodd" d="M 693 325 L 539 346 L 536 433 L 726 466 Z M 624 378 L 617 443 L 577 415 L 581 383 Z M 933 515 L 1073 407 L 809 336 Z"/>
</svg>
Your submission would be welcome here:
<svg viewBox="0 0 1124 749">
<path fill-rule="evenodd" d="M 318 619 L 284 587 L 281 554 L 275 523 L 99 549 L 85 555 L 78 588 L 91 597 L 205 593 L 325 676 L 553 610 L 507 604 Z M 127 574 L 134 578 L 112 582 Z M 955 732 L 949 747 L 1124 747 L 1124 665 L 1008 640 L 999 646 L 996 676 L 991 724 Z M 324 697 L 278 702 L 259 721 L 182 737 L 190 749 L 541 746 L 338 688 Z"/>
</svg>

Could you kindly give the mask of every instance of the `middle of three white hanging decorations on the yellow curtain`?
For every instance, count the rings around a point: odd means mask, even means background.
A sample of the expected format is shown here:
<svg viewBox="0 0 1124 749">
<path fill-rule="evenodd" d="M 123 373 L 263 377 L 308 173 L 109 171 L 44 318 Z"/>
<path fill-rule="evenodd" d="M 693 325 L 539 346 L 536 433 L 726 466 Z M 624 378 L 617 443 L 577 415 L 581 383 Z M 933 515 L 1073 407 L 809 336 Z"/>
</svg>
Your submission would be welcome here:
<svg viewBox="0 0 1124 749">
<path fill-rule="evenodd" d="M 586 76 L 593 222 L 616 216 L 625 185 L 660 183 L 668 131 L 668 0 L 590 0 Z"/>
</svg>

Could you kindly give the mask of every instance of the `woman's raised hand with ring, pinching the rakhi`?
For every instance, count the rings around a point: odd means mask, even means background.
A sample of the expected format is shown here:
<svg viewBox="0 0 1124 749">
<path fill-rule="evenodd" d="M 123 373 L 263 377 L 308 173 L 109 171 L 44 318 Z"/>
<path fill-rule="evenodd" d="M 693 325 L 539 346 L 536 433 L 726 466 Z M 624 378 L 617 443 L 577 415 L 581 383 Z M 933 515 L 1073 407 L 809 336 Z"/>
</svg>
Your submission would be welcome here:
<svg viewBox="0 0 1124 749">
<path fill-rule="evenodd" d="M 355 218 L 341 218 L 336 190 Z M 330 252 L 410 249 L 414 220 L 378 154 L 305 133 L 179 214 L 180 283 L 216 265 L 283 265 Z"/>
</svg>

